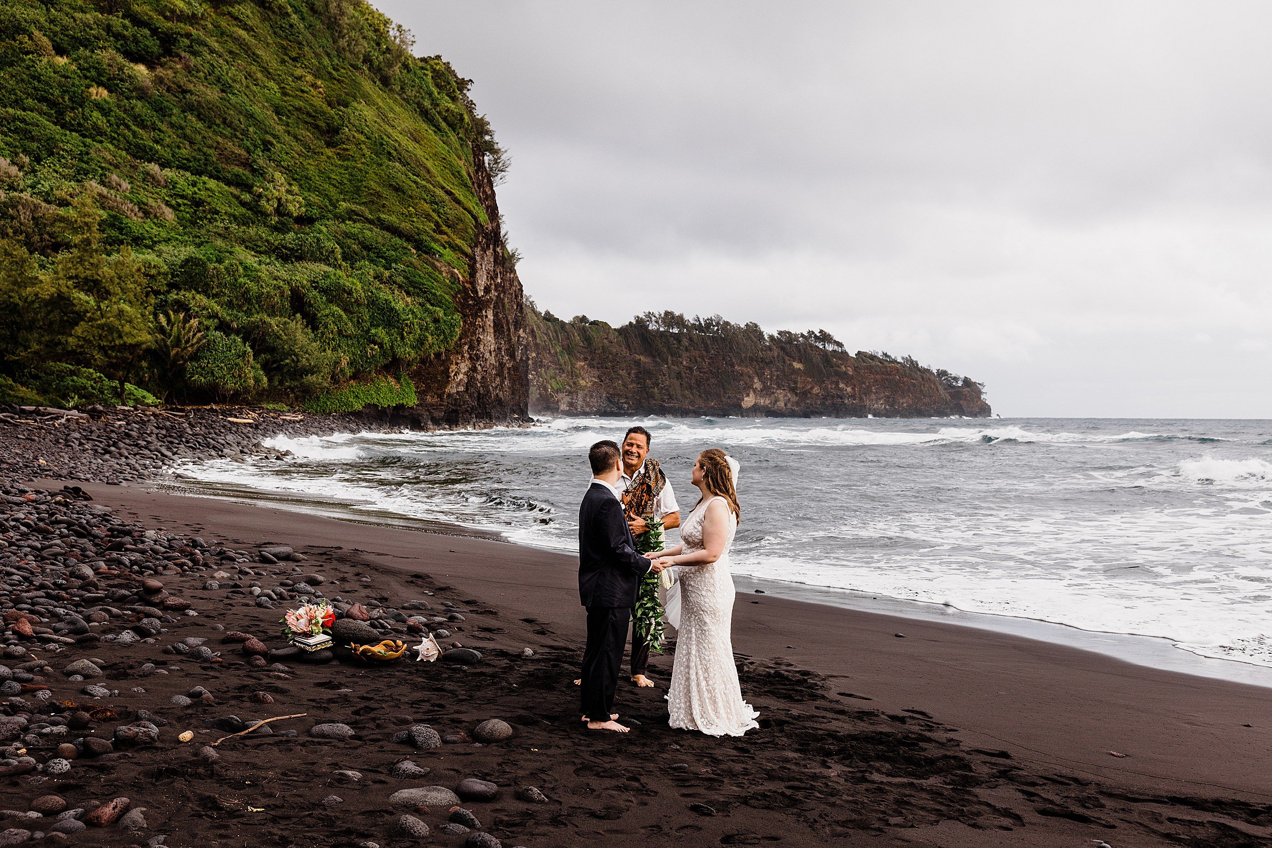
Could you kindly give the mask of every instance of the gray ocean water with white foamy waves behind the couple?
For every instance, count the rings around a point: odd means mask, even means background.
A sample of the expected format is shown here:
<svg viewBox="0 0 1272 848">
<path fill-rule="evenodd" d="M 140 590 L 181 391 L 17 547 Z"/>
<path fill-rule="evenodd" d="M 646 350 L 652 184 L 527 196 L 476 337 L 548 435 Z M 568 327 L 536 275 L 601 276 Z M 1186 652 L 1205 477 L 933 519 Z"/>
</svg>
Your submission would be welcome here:
<svg viewBox="0 0 1272 848">
<path fill-rule="evenodd" d="M 1272 666 L 1272 421 L 555 418 L 271 440 L 181 486 L 410 516 L 574 549 L 586 449 L 640 423 L 684 510 L 693 458 L 742 463 L 734 570 L 1172 639 Z"/>
</svg>

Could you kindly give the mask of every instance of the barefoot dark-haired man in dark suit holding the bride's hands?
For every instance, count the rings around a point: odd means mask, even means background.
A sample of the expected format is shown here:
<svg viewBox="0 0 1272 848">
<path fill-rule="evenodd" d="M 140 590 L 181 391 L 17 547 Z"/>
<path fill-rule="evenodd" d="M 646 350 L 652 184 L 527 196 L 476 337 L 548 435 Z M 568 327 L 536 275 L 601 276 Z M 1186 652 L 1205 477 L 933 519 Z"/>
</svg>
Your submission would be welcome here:
<svg viewBox="0 0 1272 848">
<path fill-rule="evenodd" d="M 588 647 L 583 653 L 583 716 L 588 730 L 626 734 L 613 712 L 614 688 L 627 643 L 627 624 L 641 577 L 663 568 L 636 553 L 617 488 L 622 454 L 612 441 L 588 451 L 591 484 L 579 506 L 579 600 L 588 610 Z"/>
</svg>

